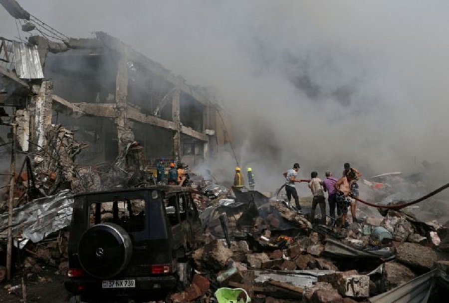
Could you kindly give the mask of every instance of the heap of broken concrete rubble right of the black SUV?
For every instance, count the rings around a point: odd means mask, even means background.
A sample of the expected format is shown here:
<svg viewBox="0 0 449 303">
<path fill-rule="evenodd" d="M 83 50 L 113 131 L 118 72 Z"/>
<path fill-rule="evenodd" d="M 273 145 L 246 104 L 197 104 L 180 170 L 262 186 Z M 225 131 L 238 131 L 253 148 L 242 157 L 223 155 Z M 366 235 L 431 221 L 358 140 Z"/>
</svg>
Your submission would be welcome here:
<svg viewBox="0 0 449 303">
<path fill-rule="evenodd" d="M 196 301 L 175 294 L 169 302 L 208 302 L 227 289 L 244 290 L 255 302 L 366 302 L 448 259 L 439 249 L 442 241 L 435 241 L 446 230 L 402 211 L 352 223 L 342 238 L 332 227 L 312 225 L 283 201 L 244 194 L 234 189 L 202 214 L 205 234 L 193 259 L 210 289 Z M 257 204 L 252 220 L 239 225 Z M 218 214 L 228 218 L 230 246 Z"/>
</svg>

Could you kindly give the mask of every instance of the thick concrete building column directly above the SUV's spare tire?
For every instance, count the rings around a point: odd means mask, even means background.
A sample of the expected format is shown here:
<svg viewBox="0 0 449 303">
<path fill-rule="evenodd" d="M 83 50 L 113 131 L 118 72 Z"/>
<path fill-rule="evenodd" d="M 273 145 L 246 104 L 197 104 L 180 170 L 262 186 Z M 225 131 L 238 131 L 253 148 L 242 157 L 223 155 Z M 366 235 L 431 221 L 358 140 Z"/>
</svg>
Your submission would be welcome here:
<svg viewBox="0 0 449 303">
<path fill-rule="evenodd" d="M 128 120 L 127 96 L 128 96 L 128 66 L 126 65 L 128 56 L 123 51 L 118 63 L 117 78 L 115 81 L 115 123 L 117 125 L 118 152 L 121 155 L 126 145 L 134 141 L 134 133 L 131 130 Z"/>
</svg>

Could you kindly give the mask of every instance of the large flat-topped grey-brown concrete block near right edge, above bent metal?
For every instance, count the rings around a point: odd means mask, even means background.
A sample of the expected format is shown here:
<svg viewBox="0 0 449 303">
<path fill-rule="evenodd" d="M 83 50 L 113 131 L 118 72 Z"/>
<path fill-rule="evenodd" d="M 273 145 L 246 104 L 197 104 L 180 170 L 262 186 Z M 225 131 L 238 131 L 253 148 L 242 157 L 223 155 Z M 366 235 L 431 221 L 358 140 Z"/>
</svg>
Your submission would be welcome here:
<svg viewBox="0 0 449 303">
<path fill-rule="evenodd" d="M 408 242 L 396 248 L 396 257 L 402 264 L 425 271 L 431 270 L 434 263 L 438 261 L 438 255 L 433 249 Z"/>
</svg>

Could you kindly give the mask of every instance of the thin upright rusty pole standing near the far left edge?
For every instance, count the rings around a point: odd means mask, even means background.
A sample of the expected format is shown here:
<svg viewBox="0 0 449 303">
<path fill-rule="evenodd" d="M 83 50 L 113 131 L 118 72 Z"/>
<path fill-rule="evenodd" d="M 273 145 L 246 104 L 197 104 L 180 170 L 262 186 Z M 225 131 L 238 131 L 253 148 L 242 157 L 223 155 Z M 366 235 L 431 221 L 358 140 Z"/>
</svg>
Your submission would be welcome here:
<svg viewBox="0 0 449 303">
<path fill-rule="evenodd" d="M 15 134 L 17 124 L 10 124 L 12 132 L 11 148 L 11 180 L 9 181 L 9 204 L 8 204 L 8 242 L 6 248 L 6 271 L 7 280 L 11 280 L 11 260 L 12 260 L 12 209 L 14 207 L 14 184 L 15 184 Z"/>
</svg>

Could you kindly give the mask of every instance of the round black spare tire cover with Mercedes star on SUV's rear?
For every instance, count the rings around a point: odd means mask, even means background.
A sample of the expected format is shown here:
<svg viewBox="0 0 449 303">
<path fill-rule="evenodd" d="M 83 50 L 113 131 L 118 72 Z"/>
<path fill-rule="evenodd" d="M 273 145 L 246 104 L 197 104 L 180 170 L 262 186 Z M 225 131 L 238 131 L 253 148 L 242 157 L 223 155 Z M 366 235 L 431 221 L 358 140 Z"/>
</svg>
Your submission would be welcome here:
<svg viewBox="0 0 449 303">
<path fill-rule="evenodd" d="M 97 224 L 81 236 L 78 258 L 82 268 L 92 277 L 109 279 L 128 265 L 132 254 L 128 233 L 113 223 Z"/>
</svg>

